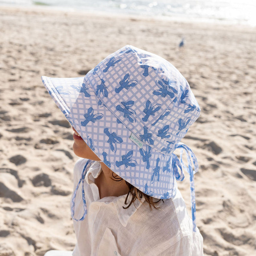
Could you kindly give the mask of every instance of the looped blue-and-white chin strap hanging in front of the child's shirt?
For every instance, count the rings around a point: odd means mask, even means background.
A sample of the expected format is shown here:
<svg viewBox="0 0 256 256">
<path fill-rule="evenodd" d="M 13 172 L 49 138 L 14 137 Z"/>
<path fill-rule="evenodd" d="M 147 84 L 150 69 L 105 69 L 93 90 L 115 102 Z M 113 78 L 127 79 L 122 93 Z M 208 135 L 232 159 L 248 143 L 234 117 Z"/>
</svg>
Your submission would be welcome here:
<svg viewBox="0 0 256 256">
<path fill-rule="evenodd" d="M 85 178 L 85 175 L 87 173 L 86 167 L 90 162 L 91 162 L 91 160 L 88 160 L 86 162 L 86 164 L 84 165 L 84 169 L 83 169 L 83 172 L 81 173 L 80 180 L 78 181 L 78 184 L 76 185 L 76 189 L 75 189 L 75 191 L 73 193 L 73 196 L 72 196 L 72 199 L 71 199 L 71 217 L 72 217 L 73 220 L 76 220 L 76 221 L 84 220 L 84 218 L 87 214 L 87 206 L 86 206 L 85 193 L 84 193 L 84 178 Z M 81 219 L 76 219 L 75 218 L 75 200 L 76 200 L 76 193 L 77 193 L 77 190 L 78 190 L 78 188 L 81 184 L 81 181 L 82 181 L 82 199 L 83 199 L 83 206 L 84 206 L 84 214 L 83 214 Z"/>
</svg>

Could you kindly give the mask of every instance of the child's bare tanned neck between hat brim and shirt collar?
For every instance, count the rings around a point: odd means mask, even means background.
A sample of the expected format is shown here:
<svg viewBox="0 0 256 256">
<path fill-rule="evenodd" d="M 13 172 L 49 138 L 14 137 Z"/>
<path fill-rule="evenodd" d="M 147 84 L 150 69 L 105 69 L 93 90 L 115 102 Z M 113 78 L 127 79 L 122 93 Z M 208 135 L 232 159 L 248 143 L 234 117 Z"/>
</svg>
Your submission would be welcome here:
<svg viewBox="0 0 256 256">
<path fill-rule="evenodd" d="M 112 171 L 103 163 L 101 164 L 102 171 L 95 179 L 95 184 L 99 188 L 100 198 L 107 196 L 122 196 L 128 193 L 128 186 L 125 180 L 113 180 Z M 117 176 L 119 178 L 119 176 Z"/>
</svg>

